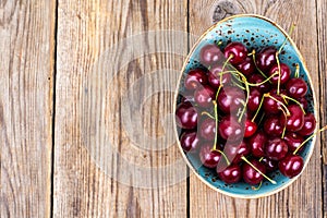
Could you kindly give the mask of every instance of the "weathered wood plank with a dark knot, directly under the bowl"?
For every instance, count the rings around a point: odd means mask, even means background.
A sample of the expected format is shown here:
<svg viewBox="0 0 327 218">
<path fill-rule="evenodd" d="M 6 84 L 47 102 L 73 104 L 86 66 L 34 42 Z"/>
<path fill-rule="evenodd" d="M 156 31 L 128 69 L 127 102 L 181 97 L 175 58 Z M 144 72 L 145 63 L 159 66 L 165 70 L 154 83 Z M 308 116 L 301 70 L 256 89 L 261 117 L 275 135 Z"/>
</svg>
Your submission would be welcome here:
<svg viewBox="0 0 327 218">
<path fill-rule="evenodd" d="M 190 32 L 191 34 L 201 35 L 211 25 L 213 21 L 217 21 L 217 17 L 222 19 L 226 15 L 238 13 L 257 13 L 268 16 L 286 29 L 289 29 L 290 25 L 295 23 L 296 29 L 292 37 L 306 60 L 314 86 L 320 86 L 319 74 L 317 73 L 318 48 L 316 43 L 315 2 L 305 0 L 190 0 Z M 323 28 L 324 23 L 322 22 L 320 25 Z M 322 36 L 324 35 L 320 34 Z M 193 43 L 191 41 L 191 45 Z M 323 72 L 326 80 L 325 71 Z M 316 89 L 318 99 L 326 96 L 322 92 L 324 89 L 320 92 Z M 326 117 L 326 109 L 323 112 Z M 318 138 L 311 161 L 301 178 L 284 191 L 269 197 L 259 199 L 227 197 L 210 190 L 196 177 L 192 175 L 190 181 L 190 214 L 191 217 L 207 217 L 207 215 L 210 215 L 210 217 L 322 217 L 320 181 L 322 159 L 320 141 Z"/>
</svg>

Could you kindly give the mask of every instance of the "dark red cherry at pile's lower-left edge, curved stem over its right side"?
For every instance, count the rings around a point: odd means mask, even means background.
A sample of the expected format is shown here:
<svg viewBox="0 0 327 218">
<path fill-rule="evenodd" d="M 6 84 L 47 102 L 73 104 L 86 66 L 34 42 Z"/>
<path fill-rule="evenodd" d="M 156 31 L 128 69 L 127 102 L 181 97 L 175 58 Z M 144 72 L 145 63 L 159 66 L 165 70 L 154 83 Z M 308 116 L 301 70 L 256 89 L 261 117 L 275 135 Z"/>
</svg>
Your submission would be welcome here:
<svg viewBox="0 0 327 218">
<path fill-rule="evenodd" d="M 199 160 L 207 168 L 217 167 L 219 160 L 221 158 L 221 153 L 218 150 L 213 150 L 213 146 L 203 145 L 199 148 Z"/>
</svg>

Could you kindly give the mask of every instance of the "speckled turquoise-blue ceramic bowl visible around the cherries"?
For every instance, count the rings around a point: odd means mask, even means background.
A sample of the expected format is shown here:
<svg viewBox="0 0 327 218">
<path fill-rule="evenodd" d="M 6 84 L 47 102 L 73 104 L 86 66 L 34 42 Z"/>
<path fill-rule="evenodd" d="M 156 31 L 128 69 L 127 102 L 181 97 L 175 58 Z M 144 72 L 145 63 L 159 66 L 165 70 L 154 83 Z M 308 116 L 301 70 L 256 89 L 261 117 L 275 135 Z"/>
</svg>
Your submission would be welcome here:
<svg viewBox="0 0 327 218">
<path fill-rule="evenodd" d="M 284 52 L 281 52 L 279 56 L 280 61 L 287 63 L 291 68 L 292 74 L 295 72 L 295 64 L 300 64 L 300 76 L 307 82 L 310 87 L 307 93 L 308 111 L 314 112 L 316 116 L 316 99 L 313 92 L 310 73 L 306 70 L 304 60 L 300 55 L 295 44 L 276 23 L 264 16 L 253 14 L 242 14 L 225 19 L 216 23 L 199 37 L 184 62 L 177 93 L 183 92 L 183 78 L 185 74 L 187 74 L 190 70 L 201 66 L 198 53 L 203 46 L 222 41 L 221 47 L 223 48 L 230 41 L 240 41 L 247 47 L 249 51 L 251 51 L 252 49 L 258 50 L 259 48 L 267 46 L 280 48 L 286 38 L 287 43 L 283 47 Z M 180 98 L 180 95 L 177 95 L 175 106 L 181 101 Z M 178 133 L 178 129 L 175 129 L 175 132 Z M 301 156 L 304 159 L 304 168 L 306 167 L 313 153 L 314 144 L 315 137 L 307 142 L 305 149 L 301 153 Z M 204 183 L 220 193 L 233 197 L 257 198 L 271 195 L 290 185 L 300 175 L 299 174 L 295 178 L 289 179 L 282 175 L 279 171 L 276 171 L 268 175 L 272 178 L 277 184 L 272 184 L 267 180 L 264 180 L 264 183 L 259 190 L 253 190 L 251 185 L 244 182 L 226 184 L 219 180 L 215 170 L 210 170 L 202 166 L 197 155 L 185 154 L 180 145 L 179 147 L 189 167 Z"/>
</svg>

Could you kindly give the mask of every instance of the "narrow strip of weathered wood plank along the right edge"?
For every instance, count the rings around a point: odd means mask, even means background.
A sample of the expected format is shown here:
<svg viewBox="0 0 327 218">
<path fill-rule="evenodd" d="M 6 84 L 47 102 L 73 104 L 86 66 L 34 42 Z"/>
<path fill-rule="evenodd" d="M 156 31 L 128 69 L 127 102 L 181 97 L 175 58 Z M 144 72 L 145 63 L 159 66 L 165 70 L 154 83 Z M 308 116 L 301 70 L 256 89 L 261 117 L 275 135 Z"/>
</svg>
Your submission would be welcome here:
<svg viewBox="0 0 327 218">
<path fill-rule="evenodd" d="M 327 14 L 325 13 L 327 9 L 327 2 L 318 0 L 317 1 L 317 28 L 318 28 L 318 51 L 319 51 L 319 89 L 320 89 L 320 123 L 322 125 L 327 124 L 327 46 L 326 46 L 326 21 Z M 322 155 L 323 155 L 323 209 L 324 217 L 327 217 L 327 132 L 322 133 Z"/>
</svg>

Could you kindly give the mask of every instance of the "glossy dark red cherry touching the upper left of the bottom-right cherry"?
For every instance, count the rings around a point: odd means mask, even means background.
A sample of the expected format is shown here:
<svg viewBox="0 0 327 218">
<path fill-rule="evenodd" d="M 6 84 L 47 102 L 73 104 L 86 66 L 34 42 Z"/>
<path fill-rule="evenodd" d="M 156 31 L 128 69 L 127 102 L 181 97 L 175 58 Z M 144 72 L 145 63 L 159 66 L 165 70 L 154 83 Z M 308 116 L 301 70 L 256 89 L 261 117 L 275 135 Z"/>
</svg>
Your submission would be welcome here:
<svg viewBox="0 0 327 218">
<path fill-rule="evenodd" d="M 281 160 L 287 155 L 289 148 L 284 140 L 275 137 L 269 140 L 265 146 L 266 157 L 272 160 Z"/>
</svg>

